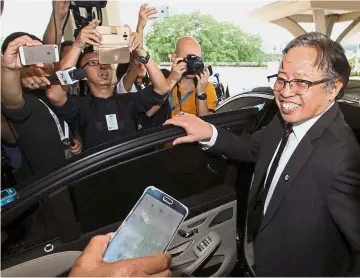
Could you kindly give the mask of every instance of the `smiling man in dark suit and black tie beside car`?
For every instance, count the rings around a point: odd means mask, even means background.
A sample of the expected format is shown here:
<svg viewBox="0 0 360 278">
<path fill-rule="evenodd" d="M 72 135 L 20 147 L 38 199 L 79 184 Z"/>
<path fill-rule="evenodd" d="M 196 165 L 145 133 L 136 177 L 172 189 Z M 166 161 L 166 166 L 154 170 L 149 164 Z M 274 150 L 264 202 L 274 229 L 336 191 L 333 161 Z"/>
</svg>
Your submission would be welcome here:
<svg viewBox="0 0 360 278">
<path fill-rule="evenodd" d="M 267 127 L 236 136 L 192 115 L 167 124 L 187 132 L 175 145 L 200 141 L 256 163 L 245 250 L 257 276 L 343 276 L 360 252 L 360 148 L 336 102 L 350 67 L 320 33 L 294 39 L 283 54 L 273 76 L 279 113 Z"/>
</svg>

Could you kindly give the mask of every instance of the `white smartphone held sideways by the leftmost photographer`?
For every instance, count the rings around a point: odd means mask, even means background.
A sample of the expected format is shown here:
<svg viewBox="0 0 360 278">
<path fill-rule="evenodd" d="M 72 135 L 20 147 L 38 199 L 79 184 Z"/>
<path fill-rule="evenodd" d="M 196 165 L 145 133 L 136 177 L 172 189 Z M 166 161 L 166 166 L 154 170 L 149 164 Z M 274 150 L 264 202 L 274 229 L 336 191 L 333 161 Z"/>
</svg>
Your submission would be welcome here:
<svg viewBox="0 0 360 278">
<path fill-rule="evenodd" d="M 23 66 L 59 62 L 59 50 L 56 44 L 20 46 L 19 54 Z"/>
</svg>

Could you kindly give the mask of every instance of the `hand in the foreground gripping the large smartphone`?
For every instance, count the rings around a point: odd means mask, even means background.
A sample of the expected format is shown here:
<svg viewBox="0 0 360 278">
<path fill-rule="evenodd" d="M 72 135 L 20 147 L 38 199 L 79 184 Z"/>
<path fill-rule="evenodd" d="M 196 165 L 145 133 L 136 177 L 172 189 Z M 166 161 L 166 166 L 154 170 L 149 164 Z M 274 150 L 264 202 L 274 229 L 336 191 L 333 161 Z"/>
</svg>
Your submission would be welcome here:
<svg viewBox="0 0 360 278">
<path fill-rule="evenodd" d="M 103 256 L 111 234 L 91 239 L 75 262 L 71 277 L 170 277 L 171 256 L 168 253 L 107 263 Z"/>
</svg>

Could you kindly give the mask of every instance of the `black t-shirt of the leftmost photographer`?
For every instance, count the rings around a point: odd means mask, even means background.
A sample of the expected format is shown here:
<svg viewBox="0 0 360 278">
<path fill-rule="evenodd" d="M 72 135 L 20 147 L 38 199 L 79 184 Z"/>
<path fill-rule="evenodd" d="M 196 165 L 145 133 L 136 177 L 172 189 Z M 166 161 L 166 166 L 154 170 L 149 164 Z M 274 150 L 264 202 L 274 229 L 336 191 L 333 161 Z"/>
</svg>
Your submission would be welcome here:
<svg viewBox="0 0 360 278">
<path fill-rule="evenodd" d="M 25 105 L 21 109 L 2 107 L 33 174 L 50 173 L 66 164 L 64 145 L 48 108 L 38 97 L 24 90 Z M 43 100 L 46 103 L 46 100 Z M 48 105 L 48 104 L 47 104 Z M 64 121 L 59 118 L 64 130 Z"/>
</svg>

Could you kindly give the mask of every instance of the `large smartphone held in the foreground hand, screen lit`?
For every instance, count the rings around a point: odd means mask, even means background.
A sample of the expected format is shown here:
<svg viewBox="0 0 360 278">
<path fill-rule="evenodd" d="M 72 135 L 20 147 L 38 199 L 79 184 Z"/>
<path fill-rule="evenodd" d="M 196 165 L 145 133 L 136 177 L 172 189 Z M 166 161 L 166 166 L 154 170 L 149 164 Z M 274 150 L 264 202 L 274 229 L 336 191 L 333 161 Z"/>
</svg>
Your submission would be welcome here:
<svg viewBox="0 0 360 278">
<path fill-rule="evenodd" d="M 109 242 L 104 261 L 150 256 L 167 250 L 188 209 L 161 190 L 150 186 Z"/>
</svg>

